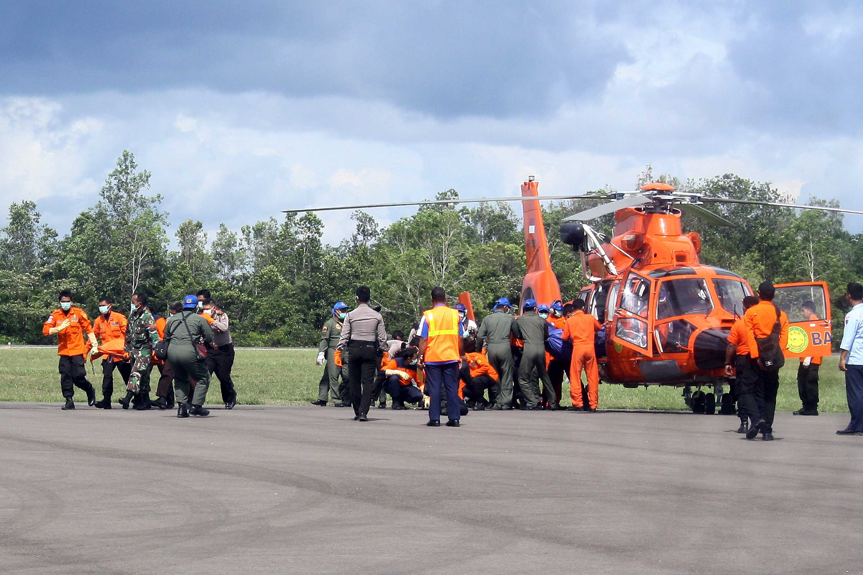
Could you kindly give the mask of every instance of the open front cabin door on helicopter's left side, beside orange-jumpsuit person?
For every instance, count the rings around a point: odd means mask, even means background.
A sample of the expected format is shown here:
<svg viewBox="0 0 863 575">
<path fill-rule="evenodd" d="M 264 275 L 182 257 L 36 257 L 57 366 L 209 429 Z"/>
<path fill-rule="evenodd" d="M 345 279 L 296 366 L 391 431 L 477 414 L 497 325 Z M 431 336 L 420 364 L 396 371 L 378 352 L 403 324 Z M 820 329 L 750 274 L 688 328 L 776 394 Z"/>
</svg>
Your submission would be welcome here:
<svg viewBox="0 0 863 575">
<path fill-rule="evenodd" d="M 628 347 L 648 357 L 653 355 L 655 314 L 650 310 L 655 291 L 656 280 L 636 272 L 627 273 L 620 287 L 609 338 L 618 352 Z"/>
</svg>

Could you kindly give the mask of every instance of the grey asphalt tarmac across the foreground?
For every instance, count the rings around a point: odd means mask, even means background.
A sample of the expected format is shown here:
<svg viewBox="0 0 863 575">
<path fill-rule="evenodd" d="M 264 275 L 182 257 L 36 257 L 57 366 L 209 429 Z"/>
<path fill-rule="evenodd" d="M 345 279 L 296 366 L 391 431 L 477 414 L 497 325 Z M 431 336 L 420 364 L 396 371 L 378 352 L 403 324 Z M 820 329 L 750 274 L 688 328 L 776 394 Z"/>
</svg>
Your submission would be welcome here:
<svg viewBox="0 0 863 575">
<path fill-rule="evenodd" d="M 860 573 L 847 415 L 0 403 L 2 573 Z"/>
</svg>

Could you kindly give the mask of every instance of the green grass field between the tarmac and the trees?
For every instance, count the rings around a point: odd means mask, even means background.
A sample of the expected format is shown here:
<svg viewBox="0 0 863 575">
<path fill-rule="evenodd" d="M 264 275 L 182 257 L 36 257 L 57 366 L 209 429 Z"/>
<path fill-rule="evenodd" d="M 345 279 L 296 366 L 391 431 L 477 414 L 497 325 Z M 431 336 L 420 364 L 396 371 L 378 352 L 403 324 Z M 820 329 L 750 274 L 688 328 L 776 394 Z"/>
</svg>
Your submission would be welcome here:
<svg viewBox="0 0 863 575">
<path fill-rule="evenodd" d="M 315 350 L 255 351 L 238 349 L 233 378 L 240 403 L 291 404 L 317 399 L 322 367 L 315 366 Z M 847 411 L 845 378 L 837 369 L 837 358 L 824 359 L 819 386 L 821 411 Z M 101 365 L 96 362 L 93 375 L 87 367 L 91 383 L 101 389 Z M 158 375 L 158 374 L 157 374 Z M 115 397 L 123 390 L 115 372 Z M 78 401 L 84 397 L 80 391 Z M 219 403 L 218 382 L 211 384 L 209 403 Z M 0 347 L 0 401 L 60 402 L 60 376 L 57 356 L 47 348 Z M 569 394 L 564 382 L 564 401 Z M 780 374 L 777 409 L 791 411 L 800 407 L 797 397 L 797 362 L 789 360 Z M 627 390 L 620 385 L 600 385 L 600 408 L 603 409 L 685 409 L 679 388 L 651 386 Z"/>
</svg>

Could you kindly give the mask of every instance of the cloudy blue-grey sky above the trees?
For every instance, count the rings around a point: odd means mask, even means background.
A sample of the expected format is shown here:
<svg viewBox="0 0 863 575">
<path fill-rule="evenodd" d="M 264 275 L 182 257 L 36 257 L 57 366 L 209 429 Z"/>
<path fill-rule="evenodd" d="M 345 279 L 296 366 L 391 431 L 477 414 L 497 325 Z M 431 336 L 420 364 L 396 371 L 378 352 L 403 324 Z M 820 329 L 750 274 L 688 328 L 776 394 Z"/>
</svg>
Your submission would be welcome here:
<svg viewBox="0 0 863 575">
<path fill-rule="evenodd" d="M 0 18 L 0 209 L 61 232 L 123 148 L 208 230 L 528 175 L 629 189 L 648 163 L 863 209 L 860 3 L 82 4 Z"/>
</svg>

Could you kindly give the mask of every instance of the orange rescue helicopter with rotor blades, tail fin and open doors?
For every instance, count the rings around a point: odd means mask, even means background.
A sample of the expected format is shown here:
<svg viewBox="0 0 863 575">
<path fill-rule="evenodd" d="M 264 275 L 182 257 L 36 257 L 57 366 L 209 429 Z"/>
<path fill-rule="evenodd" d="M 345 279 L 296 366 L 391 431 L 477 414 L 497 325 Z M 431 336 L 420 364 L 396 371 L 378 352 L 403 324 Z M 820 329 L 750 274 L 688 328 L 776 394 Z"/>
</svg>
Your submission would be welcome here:
<svg viewBox="0 0 863 575">
<path fill-rule="evenodd" d="M 530 177 L 521 185 L 521 198 L 490 197 L 425 202 L 377 203 L 286 212 L 330 209 L 363 209 L 518 201 L 524 214 L 527 272 L 521 302 L 561 300 L 560 286 L 551 269 L 541 201 L 611 199 L 564 220 L 561 239 L 581 254 L 584 278 L 589 284 L 578 294 L 604 325 L 604 346 L 598 346 L 600 378 L 608 384 L 635 388 L 640 385 L 683 387 L 685 403 L 696 413 L 734 412 L 734 398 L 725 386 L 725 352 L 728 333 L 743 315 L 743 297 L 752 287 L 734 272 L 702 265 L 701 236 L 683 233 L 683 213 L 706 222 L 730 226 L 731 222 L 704 209 L 704 203 L 750 203 L 795 209 L 821 209 L 863 214 L 851 209 L 767 203 L 721 197 L 698 197 L 673 186 L 652 183 L 639 191 L 614 192 L 605 196 L 539 196 L 539 183 Z M 614 213 L 614 237 L 610 240 L 587 222 Z M 803 318 L 800 304 L 816 303 L 818 319 Z M 460 301 L 473 318 L 469 294 Z M 777 284 L 774 302 L 789 318 L 786 357 L 822 357 L 831 353 L 830 299 L 824 282 Z M 603 353 L 604 352 L 604 353 Z M 696 387 L 696 391 L 692 388 Z M 705 393 L 702 387 L 712 389 Z"/>
</svg>

